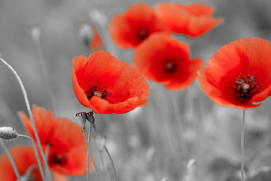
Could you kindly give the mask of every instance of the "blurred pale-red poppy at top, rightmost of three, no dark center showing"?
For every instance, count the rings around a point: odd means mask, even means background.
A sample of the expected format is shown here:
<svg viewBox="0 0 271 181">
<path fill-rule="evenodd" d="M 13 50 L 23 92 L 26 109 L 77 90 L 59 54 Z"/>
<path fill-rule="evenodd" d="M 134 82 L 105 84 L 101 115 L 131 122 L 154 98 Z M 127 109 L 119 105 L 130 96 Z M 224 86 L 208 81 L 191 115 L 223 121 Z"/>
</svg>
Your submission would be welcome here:
<svg viewBox="0 0 271 181">
<path fill-rule="evenodd" d="M 190 5 L 172 2 L 159 3 L 155 7 L 158 16 L 175 33 L 197 38 L 212 30 L 222 19 L 212 17 L 213 8 L 204 4 Z"/>
</svg>

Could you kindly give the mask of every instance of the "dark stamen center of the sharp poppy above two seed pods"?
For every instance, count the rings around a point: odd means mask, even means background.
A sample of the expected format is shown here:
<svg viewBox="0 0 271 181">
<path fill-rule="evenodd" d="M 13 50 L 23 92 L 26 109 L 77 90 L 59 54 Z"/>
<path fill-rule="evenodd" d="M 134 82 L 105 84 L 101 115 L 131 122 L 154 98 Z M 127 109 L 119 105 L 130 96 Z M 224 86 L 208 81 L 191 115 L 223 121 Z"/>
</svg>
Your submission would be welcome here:
<svg viewBox="0 0 271 181">
<path fill-rule="evenodd" d="M 109 94 L 113 95 L 113 94 L 111 93 L 111 91 L 109 93 L 109 91 L 106 89 L 106 87 L 104 87 L 104 89 L 102 89 L 103 88 L 102 85 L 101 85 L 101 87 L 99 87 L 99 83 L 96 83 L 96 84 L 91 85 L 85 93 L 88 96 L 89 100 L 93 96 L 98 96 L 98 97 L 101 97 L 102 99 L 105 99 L 108 101 L 108 95 Z"/>
</svg>

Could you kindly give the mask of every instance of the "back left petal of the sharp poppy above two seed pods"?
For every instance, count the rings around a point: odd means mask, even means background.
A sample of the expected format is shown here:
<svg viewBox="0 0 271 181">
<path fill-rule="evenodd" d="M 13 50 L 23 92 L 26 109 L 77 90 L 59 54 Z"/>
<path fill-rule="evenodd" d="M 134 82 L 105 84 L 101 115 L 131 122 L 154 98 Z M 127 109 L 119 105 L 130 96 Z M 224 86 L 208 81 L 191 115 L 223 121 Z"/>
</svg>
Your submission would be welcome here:
<svg viewBox="0 0 271 181">
<path fill-rule="evenodd" d="M 89 86 L 99 83 L 103 87 L 110 87 L 120 77 L 121 72 L 119 61 L 109 52 L 100 50 L 90 54 L 89 59 L 85 56 L 73 58 L 73 90 L 77 99 L 83 106 L 92 108 L 85 94 Z"/>
</svg>

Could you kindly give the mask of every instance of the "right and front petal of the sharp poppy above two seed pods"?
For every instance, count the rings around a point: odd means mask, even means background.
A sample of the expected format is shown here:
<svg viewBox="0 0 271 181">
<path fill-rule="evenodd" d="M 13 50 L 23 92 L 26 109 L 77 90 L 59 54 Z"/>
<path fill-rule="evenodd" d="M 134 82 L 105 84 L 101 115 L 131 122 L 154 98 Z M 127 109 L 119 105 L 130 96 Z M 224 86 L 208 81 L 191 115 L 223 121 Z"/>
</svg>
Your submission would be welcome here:
<svg viewBox="0 0 271 181">
<path fill-rule="evenodd" d="M 148 83 L 136 68 L 126 62 L 120 62 L 122 74 L 120 78 L 108 89 L 113 95 L 108 101 L 99 97 L 92 97 L 90 103 L 95 107 L 95 113 L 127 113 L 138 106 L 145 106 L 147 103 Z"/>
</svg>

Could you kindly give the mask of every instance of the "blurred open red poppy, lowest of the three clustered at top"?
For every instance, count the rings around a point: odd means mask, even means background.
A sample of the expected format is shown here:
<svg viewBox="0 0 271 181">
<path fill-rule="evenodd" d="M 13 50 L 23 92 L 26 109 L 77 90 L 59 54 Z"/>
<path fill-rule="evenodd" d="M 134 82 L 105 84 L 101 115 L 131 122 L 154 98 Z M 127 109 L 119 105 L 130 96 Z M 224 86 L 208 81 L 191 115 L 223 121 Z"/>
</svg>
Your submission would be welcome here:
<svg viewBox="0 0 271 181">
<path fill-rule="evenodd" d="M 203 60 L 190 58 L 187 43 L 180 43 L 166 33 L 154 33 L 135 49 L 133 65 L 151 81 L 160 82 L 168 90 L 190 86 Z"/>
</svg>

